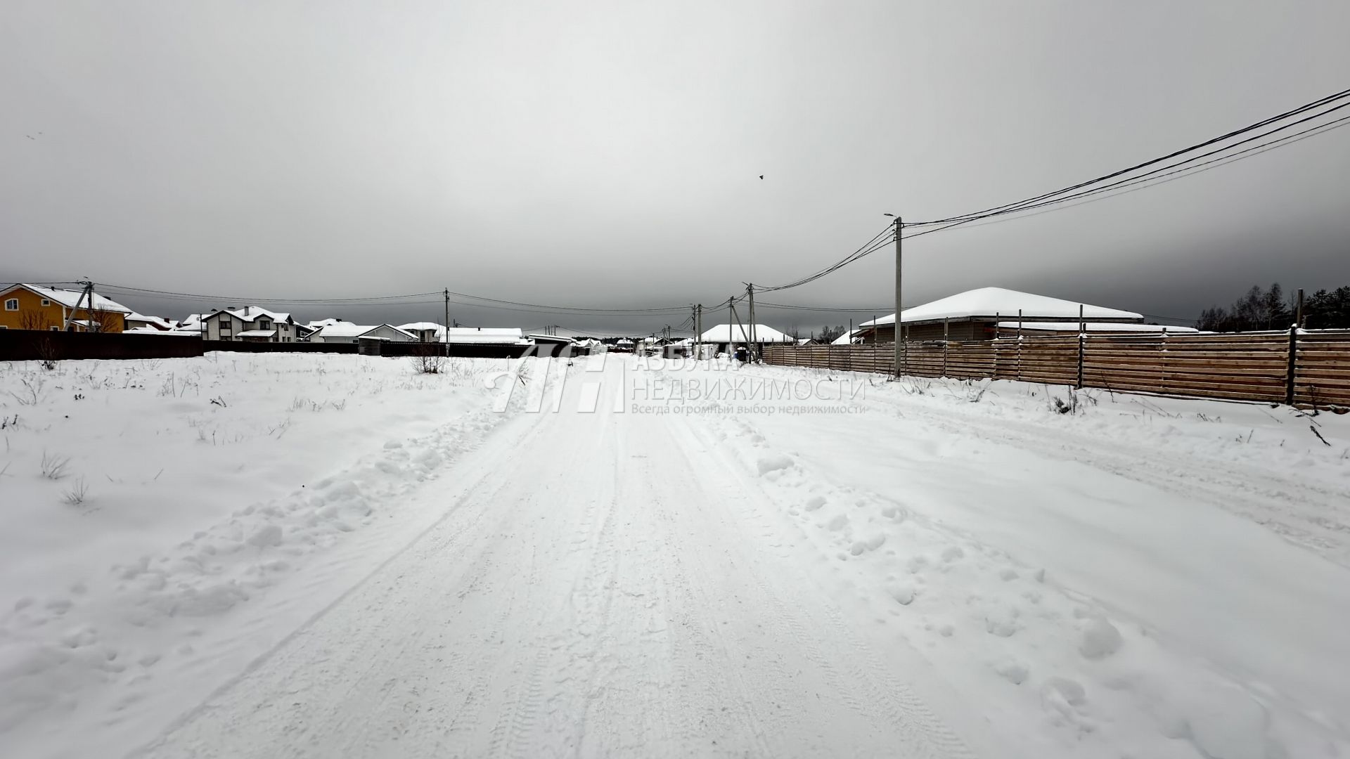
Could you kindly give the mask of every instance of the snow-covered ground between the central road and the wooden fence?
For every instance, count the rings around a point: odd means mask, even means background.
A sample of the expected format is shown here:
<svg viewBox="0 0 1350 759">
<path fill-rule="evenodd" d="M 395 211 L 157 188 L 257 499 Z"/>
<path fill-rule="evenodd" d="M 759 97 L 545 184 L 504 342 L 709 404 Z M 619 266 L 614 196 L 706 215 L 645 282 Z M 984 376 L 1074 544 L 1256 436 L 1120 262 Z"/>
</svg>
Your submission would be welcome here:
<svg viewBox="0 0 1350 759">
<path fill-rule="evenodd" d="M 841 596 L 1031 755 L 1350 747 L 1350 416 L 1099 392 L 1061 413 L 1075 393 L 1044 385 L 737 377 L 852 398 L 705 416 L 834 558 Z"/>
</svg>

